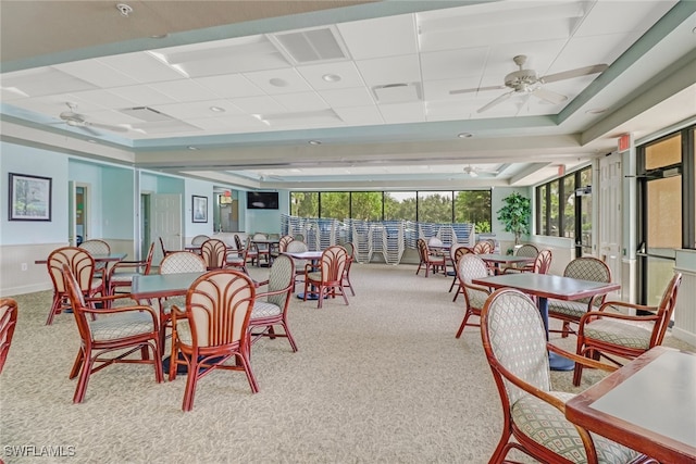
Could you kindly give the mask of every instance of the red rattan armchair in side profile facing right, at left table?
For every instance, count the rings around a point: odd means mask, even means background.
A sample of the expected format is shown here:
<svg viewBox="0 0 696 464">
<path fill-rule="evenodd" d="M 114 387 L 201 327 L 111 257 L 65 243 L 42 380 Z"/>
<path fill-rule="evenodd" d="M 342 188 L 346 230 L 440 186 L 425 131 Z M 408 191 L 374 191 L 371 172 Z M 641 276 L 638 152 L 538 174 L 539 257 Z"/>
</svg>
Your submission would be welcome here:
<svg viewBox="0 0 696 464">
<path fill-rule="evenodd" d="M 146 305 L 119 305 L 95 310 L 87 304 L 85 294 L 70 266 L 63 264 L 61 272 L 82 340 L 70 373 L 70 378 L 79 376 L 73 403 L 83 402 L 92 374 L 114 363 L 152 364 L 154 379 L 158 384 L 162 383 L 160 327 L 157 312 Z M 119 298 L 127 297 L 102 297 L 96 300 L 105 302 Z M 104 305 L 110 306 L 105 303 Z M 91 316 L 90 319 L 88 315 Z M 140 352 L 140 359 L 128 358 L 136 352 Z M 107 356 L 108 354 L 112 356 Z"/>
</svg>

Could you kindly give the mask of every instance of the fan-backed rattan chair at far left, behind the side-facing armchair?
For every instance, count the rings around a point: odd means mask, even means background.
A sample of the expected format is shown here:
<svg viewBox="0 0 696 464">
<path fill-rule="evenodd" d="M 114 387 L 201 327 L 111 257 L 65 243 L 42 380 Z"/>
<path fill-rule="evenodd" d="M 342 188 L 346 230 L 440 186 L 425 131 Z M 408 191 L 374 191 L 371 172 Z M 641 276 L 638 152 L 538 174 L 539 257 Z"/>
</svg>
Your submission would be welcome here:
<svg viewBox="0 0 696 464">
<path fill-rule="evenodd" d="M 63 247 L 53 250 L 47 261 L 48 274 L 53 283 L 53 301 L 46 325 L 53 323 L 55 314 L 72 308 L 63 281 L 63 264 L 67 264 L 75 275 L 77 286 L 85 297 L 95 297 L 105 292 L 103 280 L 95 278 L 95 260 L 89 252 L 77 247 Z"/>
</svg>

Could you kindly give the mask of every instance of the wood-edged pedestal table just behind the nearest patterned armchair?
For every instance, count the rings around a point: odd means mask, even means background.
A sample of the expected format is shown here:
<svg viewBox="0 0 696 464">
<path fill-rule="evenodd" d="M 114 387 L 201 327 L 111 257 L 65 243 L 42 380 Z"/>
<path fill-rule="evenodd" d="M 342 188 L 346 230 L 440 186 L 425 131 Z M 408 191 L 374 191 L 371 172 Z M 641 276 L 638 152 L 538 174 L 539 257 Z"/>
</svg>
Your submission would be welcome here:
<svg viewBox="0 0 696 464">
<path fill-rule="evenodd" d="M 549 298 L 566 301 L 581 300 L 583 298 L 609 293 L 610 291 L 621 288 L 621 285 L 613 283 L 582 280 L 572 277 L 536 273 L 502 274 L 472 279 L 472 283 L 494 289 L 514 288 L 524 293 L 537 297 L 537 306 L 544 321 L 547 338 Z M 571 360 L 559 356 L 556 353 L 549 353 L 549 365 L 554 371 L 572 371 L 574 367 L 574 363 Z"/>
</svg>

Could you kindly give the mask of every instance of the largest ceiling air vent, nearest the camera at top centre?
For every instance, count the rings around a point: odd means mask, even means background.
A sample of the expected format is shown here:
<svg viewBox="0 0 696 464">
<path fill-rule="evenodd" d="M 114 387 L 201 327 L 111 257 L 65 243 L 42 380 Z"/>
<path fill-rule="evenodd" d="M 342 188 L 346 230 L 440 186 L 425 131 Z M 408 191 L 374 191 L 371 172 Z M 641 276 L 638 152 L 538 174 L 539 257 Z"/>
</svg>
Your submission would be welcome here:
<svg viewBox="0 0 696 464">
<path fill-rule="evenodd" d="M 331 27 L 270 36 L 298 64 L 348 58 Z"/>
</svg>

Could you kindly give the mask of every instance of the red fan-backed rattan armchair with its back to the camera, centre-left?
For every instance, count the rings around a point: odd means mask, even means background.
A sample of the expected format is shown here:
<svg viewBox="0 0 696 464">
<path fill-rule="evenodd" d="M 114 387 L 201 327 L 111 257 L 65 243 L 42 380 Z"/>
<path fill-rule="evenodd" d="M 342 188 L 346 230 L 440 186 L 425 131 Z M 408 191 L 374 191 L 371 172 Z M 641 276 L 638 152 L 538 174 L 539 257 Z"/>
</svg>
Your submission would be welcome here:
<svg viewBox="0 0 696 464">
<path fill-rule="evenodd" d="M 243 371 L 259 391 L 249 361 L 249 321 L 256 297 L 254 284 L 234 269 L 210 271 L 197 278 L 186 293 L 186 305 L 172 311 L 170 381 L 185 365 L 186 387 L 182 409 L 194 407 L 198 380 L 215 369 Z M 228 363 L 234 359 L 235 363 Z"/>
</svg>

